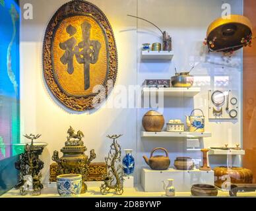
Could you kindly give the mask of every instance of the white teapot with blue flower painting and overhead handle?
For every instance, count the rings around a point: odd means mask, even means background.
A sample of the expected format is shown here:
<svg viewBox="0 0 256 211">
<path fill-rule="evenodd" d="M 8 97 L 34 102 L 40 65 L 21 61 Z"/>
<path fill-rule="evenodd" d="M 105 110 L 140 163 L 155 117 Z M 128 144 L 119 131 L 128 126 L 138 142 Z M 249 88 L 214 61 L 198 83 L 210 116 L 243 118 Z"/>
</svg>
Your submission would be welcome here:
<svg viewBox="0 0 256 211">
<path fill-rule="evenodd" d="M 192 115 L 194 111 L 199 110 L 203 115 Z M 191 111 L 190 116 L 186 117 L 187 127 L 189 128 L 189 132 L 205 132 L 205 115 L 201 109 L 193 109 Z"/>
</svg>

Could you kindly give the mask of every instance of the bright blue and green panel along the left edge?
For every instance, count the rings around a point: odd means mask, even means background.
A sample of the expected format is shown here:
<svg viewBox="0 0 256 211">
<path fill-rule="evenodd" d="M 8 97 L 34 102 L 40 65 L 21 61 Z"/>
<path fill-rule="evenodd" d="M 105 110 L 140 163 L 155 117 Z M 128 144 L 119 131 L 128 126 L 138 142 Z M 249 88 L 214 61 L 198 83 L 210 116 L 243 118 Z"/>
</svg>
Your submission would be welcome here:
<svg viewBox="0 0 256 211">
<path fill-rule="evenodd" d="M 19 7 L 16 1 L 0 4 L 0 193 L 16 183 L 16 150 L 20 142 Z M 11 175 L 8 177 L 7 175 Z"/>
</svg>

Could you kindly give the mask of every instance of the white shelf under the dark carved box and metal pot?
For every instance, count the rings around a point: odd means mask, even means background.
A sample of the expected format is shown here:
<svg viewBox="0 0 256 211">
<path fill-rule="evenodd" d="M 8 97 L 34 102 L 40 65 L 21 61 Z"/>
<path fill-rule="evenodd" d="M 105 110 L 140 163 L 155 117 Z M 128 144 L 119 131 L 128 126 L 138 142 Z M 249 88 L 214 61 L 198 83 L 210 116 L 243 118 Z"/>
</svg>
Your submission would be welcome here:
<svg viewBox="0 0 256 211">
<path fill-rule="evenodd" d="M 192 88 L 143 88 L 143 94 L 146 96 L 149 96 L 150 93 L 156 92 L 156 96 L 158 94 L 163 94 L 165 97 L 185 97 L 185 98 L 191 98 L 199 92 L 201 92 L 201 88 L 192 87 Z"/>
</svg>

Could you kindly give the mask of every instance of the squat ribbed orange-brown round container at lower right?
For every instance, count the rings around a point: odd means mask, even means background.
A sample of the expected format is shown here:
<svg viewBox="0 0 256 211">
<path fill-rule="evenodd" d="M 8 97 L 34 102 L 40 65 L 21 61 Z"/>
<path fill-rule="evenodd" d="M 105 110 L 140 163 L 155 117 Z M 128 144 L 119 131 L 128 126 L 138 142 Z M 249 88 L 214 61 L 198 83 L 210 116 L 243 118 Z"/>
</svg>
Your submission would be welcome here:
<svg viewBox="0 0 256 211">
<path fill-rule="evenodd" d="M 213 171 L 215 177 L 215 185 L 217 187 L 222 187 L 222 183 L 224 183 L 227 179 L 225 175 L 230 176 L 231 183 L 253 183 L 253 172 L 250 169 L 245 169 L 243 167 L 232 167 L 231 169 L 228 169 L 227 167 L 220 166 L 215 167 Z"/>
</svg>

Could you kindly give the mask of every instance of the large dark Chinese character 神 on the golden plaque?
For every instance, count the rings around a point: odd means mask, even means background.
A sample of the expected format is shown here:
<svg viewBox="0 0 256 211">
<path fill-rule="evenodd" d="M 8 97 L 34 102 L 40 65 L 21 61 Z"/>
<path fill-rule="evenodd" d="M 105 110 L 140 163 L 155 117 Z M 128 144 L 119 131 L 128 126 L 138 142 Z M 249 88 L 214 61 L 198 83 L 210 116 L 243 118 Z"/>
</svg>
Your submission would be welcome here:
<svg viewBox="0 0 256 211">
<path fill-rule="evenodd" d="M 97 40 L 90 40 L 91 25 L 84 21 L 81 24 L 82 42 L 77 44 L 77 40 L 73 37 L 77 33 L 77 28 L 71 24 L 67 26 L 66 31 L 71 38 L 65 42 L 61 42 L 59 47 L 65 50 L 61 57 L 61 63 L 67 65 L 67 72 L 72 75 L 74 72 L 74 55 L 79 64 L 84 65 L 84 90 L 90 87 L 90 64 L 98 61 L 101 44 Z"/>
</svg>

